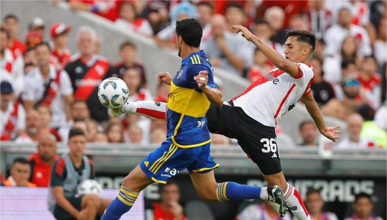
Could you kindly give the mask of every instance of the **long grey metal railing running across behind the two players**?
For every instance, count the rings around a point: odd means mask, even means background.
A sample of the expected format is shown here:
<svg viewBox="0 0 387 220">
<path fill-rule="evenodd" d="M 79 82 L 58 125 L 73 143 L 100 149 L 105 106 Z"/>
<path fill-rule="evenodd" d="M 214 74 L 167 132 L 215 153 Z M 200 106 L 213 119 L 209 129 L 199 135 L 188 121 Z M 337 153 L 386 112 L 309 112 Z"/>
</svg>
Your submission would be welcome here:
<svg viewBox="0 0 387 220">
<path fill-rule="evenodd" d="M 94 160 L 97 174 L 117 172 L 127 173 L 152 152 L 156 145 L 133 144 L 87 144 L 85 154 Z M 287 175 L 303 176 L 340 176 L 348 177 L 385 177 L 386 149 L 333 150 L 330 158 L 319 155 L 318 149 L 297 147 L 281 149 L 281 166 Z M 58 143 L 57 152 L 68 151 L 65 144 Z M 3 174 L 16 157 L 28 157 L 36 152 L 36 145 L 2 142 L 0 146 L 1 169 Z M 211 155 L 217 163 L 219 174 L 257 175 L 257 166 L 247 159 L 238 145 L 213 145 Z"/>
</svg>

